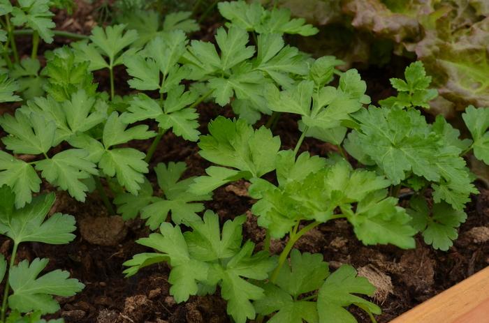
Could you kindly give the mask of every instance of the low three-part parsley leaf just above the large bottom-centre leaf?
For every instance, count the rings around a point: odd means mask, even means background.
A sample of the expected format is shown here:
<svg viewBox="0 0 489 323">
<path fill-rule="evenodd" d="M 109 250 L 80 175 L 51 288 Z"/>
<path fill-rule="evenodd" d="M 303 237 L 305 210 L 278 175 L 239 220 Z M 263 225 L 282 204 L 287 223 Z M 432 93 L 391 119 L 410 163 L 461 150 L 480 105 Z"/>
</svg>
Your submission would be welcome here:
<svg viewBox="0 0 489 323">
<path fill-rule="evenodd" d="M 176 224 L 189 224 L 195 220 L 200 220 L 197 213 L 203 211 L 205 206 L 198 202 L 210 200 L 211 196 L 188 192 L 194 177 L 179 181 L 186 168 L 187 165 L 182 162 L 170 162 L 168 166 L 159 163 L 154 167 L 159 186 L 163 190 L 163 197 L 154 197 L 147 206 L 141 209 L 141 218 L 147 219 L 146 224 L 150 229 L 156 230 L 166 220 L 170 212 L 172 221 Z"/>
</svg>

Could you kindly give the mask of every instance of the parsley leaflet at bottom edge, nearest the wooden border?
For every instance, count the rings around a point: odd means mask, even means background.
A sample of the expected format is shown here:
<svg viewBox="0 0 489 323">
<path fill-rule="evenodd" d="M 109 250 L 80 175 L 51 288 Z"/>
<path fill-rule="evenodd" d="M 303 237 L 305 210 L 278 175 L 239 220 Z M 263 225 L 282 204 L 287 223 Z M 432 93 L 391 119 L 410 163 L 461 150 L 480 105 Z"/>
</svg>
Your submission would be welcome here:
<svg viewBox="0 0 489 323">
<path fill-rule="evenodd" d="M 371 296 L 374 292 L 375 287 L 367 278 L 356 277 L 356 270 L 352 266 L 341 266 L 326 279 L 319 290 L 319 323 L 356 323 L 356 318 L 345 309 L 350 305 L 356 305 L 369 313 L 380 314 L 379 306 L 353 295 Z"/>
</svg>

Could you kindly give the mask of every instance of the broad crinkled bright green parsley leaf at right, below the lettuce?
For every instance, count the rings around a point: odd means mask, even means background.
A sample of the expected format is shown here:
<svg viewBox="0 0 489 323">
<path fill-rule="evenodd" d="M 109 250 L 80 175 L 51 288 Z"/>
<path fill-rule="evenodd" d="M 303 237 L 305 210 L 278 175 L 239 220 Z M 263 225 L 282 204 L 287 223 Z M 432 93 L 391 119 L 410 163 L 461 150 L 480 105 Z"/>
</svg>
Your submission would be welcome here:
<svg viewBox="0 0 489 323">
<path fill-rule="evenodd" d="M 374 160 L 394 184 L 409 178 L 410 172 L 433 181 L 435 202 L 445 200 L 463 209 L 469 194 L 476 193 L 472 174 L 459 157 L 460 145 L 428 126 L 414 109 L 392 110 L 370 107 L 355 114 L 360 130 L 349 135 L 355 147 Z M 353 137 L 351 137 L 353 136 Z M 346 149 L 349 151 L 349 144 Z M 358 151 L 354 152 L 358 156 Z"/>
</svg>

